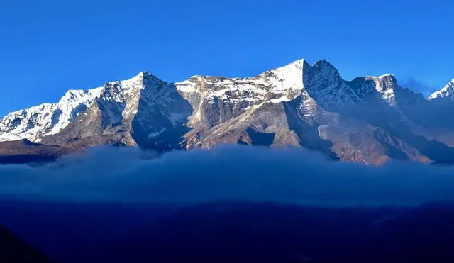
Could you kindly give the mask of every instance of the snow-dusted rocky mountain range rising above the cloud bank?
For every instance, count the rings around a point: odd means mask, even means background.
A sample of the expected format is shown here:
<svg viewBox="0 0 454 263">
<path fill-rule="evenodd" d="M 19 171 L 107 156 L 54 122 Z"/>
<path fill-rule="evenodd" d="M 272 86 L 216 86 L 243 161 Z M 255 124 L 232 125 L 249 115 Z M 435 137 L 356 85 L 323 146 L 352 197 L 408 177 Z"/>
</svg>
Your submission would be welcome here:
<svg viewBox="0 0 454 263">
<path fill-rule="evenodd" d="M 390 74 L 345 81 L 324 60 L 177 83 L 141 72 L 10 113 L 0 121 L 0 149 L 24 139 L 18 155 L 31 147 L 55 147 L 57 156 L 104 144 L 165 152 L 239 143 L 294 145 L 364 164 L 453 162 L 454 121 L 445 117 L 453 110 L 454 82 L 426 99 Z"/>
</svg>

